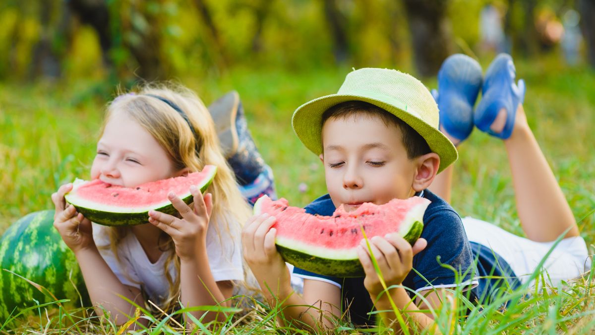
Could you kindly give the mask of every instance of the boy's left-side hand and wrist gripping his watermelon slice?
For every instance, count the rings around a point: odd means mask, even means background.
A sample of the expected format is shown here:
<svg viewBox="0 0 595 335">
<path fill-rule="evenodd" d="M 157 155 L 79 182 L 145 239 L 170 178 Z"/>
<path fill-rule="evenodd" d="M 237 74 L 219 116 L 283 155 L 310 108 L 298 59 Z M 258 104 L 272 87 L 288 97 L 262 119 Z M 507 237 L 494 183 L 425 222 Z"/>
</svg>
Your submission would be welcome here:
<svg viewBox="0 0 595 335">
<path fill-rule="evenodd" d="M 275 246 L 277 229 L 271 228 L 275 222 L 275 217 L 267 213 L 252 216 L 242 230 L 242 249 L 262 293 L 267 297 L 273 293 L 284 299 L 292 291 L 291 278 Z"/>
</svg>

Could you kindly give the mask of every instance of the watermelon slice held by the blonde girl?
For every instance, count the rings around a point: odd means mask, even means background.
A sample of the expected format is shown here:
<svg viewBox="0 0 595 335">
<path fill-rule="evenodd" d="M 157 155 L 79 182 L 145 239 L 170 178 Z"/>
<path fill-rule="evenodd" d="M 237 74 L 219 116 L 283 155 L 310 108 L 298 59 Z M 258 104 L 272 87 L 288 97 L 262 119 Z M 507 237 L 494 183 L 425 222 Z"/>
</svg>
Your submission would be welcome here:
<svg viewBox="0 0 595 335">
<path fill-rule="evenodd" d="M 193 201 L 190 186 L 204 192 L 217 173 L 217 167 L 206 165 L 201 172 L 187 176 L 148 182 L 134 188 L 107 184 L 95 179 L 76 179 L 73 190 L 64 197 L 90 221 L 107 226 L 145 224 L 149 210 L 175 215 L 177 210 L 167 198 L 170 191 L 190 204 Z"/>
</svg>

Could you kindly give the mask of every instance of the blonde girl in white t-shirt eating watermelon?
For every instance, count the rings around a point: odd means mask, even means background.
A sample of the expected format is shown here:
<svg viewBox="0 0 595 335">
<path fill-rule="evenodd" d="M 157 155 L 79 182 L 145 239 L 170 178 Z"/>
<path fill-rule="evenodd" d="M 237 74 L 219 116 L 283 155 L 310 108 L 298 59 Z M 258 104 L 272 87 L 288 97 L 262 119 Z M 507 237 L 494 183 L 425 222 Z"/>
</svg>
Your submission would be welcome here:
<svg viewBox="0 0 595 335">
<path fill-rule="evenodd" d="M 72 184 L 52 194 L 54 226 L 77 258 L 93 305 L 103 306 L 117 323 L 134 310 L 120 296 L 139 305 L 151 300 L 165 310 L 177 300 L 183 306 L 227 305 L 234 283 L 245 278 L 239 234 L 250 209 L 221 153 L 211 116 L 192 91 L 147 85 L 109 104 L 92 179 L 135 187 L 205 165 L 217 166 L 217 175 L 204 197 L 192 187 L 189 207 L 170 193 L 179 217 L 151 211 L 147 222 L 131 227 L 92 224 L 67 206 L 64 194 Z M 216 317 L 224 316 L 209 312 L 203 320 Z"/>
</svg>

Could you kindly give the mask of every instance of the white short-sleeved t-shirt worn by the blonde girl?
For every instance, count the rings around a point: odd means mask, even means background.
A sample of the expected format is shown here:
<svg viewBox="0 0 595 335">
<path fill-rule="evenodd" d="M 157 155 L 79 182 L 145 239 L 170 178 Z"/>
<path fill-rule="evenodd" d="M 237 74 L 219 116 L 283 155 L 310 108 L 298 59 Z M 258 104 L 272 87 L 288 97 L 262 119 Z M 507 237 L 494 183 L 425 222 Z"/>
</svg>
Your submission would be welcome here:
<svg viewBox="0 0 595 335">
<path fill-rule="evenodd" d="M 242 281 L 244 272 L 240 240 L 241 228 L 237 224 L 233 225 L 234 227 L 230 227 L 228 234 L 224 227 L 219 227 L 220 239 L 216 226 L 217 221 L 211 218 L 206 231 L 206 254 L 211 274 L 215 281 Z M 129 232 L 118 243 L 117 250 L 120 260 L 118 262 L 109 247 L 109 235 L 106 229 L 109 228 L 93 223 L 93 240 L 109 268 L 122 284 L 144 291 L 148 299 L 156 304 L 162 302 L 167 297 L 170 288 L 164 272 L 167 252 L 163 253 L 155 263 L 151 263 L 139 240 L 132 232 Z M 169 265 L 169 272 L 172 280 L 175 281 L 178 274 L 173 262 Z M 198 278 L 196 284 L 201 285 Z"/>
</svg>

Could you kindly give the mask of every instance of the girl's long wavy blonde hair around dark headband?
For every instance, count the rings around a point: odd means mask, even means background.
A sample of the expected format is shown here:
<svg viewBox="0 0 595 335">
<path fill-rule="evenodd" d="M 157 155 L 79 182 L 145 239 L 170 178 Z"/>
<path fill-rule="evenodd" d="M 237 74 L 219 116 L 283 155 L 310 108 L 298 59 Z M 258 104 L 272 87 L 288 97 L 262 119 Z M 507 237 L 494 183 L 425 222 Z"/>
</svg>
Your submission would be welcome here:
<svg viewBox="0 0 595 335">
<path fill-rule="evenodd" d="M 179 111 L 156 97 L 164 98 L 177 105 L 186 114 L 187 120 L 184 120 Z M 242 197 L 233 171 L 223 156 L 211 114 L 200 98 L 190 89 L 180 85 L 145 84 L 140 87 L 137 94 L 120 95 L 108 105 L 101 129 L 102 134 L 114 113 L 126 113 L 149 132 L 165 149 L 176 170 L 190 168 L 191 172 L 195 172 L 202 170 L 205 165 L 217 166 L 215 179 L 206 190 L 212 194 L 213 207 L 210 221 L 211 224 L 214 221 L 217 222 L 215 229 L 221 244 L 240 243 L 231 238 L 230 232 L 241 229 L 243 222 L 246 222 L 251 215 L 251 210 Z M 127 227 L 108 229 L 110 248 L 116 257 L 117 244 L 129 230 L 130 228 Z M 165 243 L 159 247 L 164 246 L 170 250 L 164 266 L 170 290 L 167 299 L 161 303 L 167 310 L 176 305 L 180 294 L 180 275 L 177 275 L 174 280 L 168 268 L 173 262 L 176 273 L 179 274 L 180 259 L 174 251 L 171 237 L 165 233 L 162 234 L 165 237 Z"/>
</svg>

